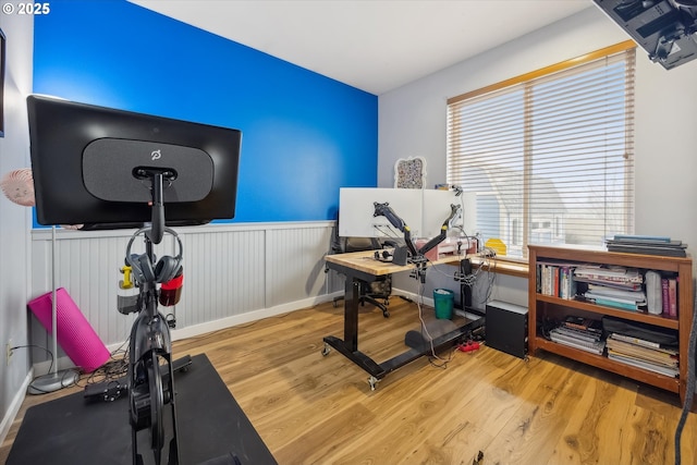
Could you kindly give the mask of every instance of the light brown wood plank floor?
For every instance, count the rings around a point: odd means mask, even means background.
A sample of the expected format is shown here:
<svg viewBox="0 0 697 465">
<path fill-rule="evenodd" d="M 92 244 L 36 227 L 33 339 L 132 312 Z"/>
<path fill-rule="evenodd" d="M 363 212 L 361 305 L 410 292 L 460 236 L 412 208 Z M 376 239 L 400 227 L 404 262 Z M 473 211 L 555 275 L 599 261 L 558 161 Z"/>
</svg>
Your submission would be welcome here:
<svg viewBox="0 0 697 465">
<path fill-rule="evenodd" d="M 425 309 L 425 314 L 432 309 Z M 362 309 L 359 348 L 381 362 L 419 327 L 416 304 L 392 297 L 390 318 Z M 174 344 L 206 353 L 279 464 L 482 465 L 674 463 L 677 395 L 551 354 L 524 362 L 491 347 L 420 358 L 370 391 L 368 375 L 325 335 L 343 335 L 331 303 Z M 70 390 L 27 396 L 0 448 L 4 463 L 26 408 Z M 72 391 L 74 392 L 74 391 Z M 211 406 L 215 408 L 215 406 Z M 682 463 L 697 463 L 689 414 Z"/>
</svg>

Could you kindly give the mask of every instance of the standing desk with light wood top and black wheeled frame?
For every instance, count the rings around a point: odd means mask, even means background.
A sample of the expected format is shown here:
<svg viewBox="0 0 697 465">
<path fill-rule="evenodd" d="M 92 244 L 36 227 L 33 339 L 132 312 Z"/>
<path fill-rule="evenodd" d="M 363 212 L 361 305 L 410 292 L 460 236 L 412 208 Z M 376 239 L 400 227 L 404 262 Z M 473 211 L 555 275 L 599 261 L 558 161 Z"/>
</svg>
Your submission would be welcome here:
<svg viewBox="0 0 697 465">
<path fill-rule="evenodd" d="M 360 297 L 360 281 L 372 282 L 378 277 L 394 274 L 405 271 L 414 271 L 414 265 L 393 265 L 379 261 L 374 258 L 375 250 L 353 252 L 347 254 L 327 255 L 325 260 L 329 269 L 335 270 L 346 277 L 344 289 L 344 339 L 328 335 L 323 339 L 322 355 L 328 355 L 330 347 L 334 347 L 343 356 L 358 365 L 370 377 L 368 383 L 375 391 L 376 383 L 389 372 L 431 353 L 430 344 L 424 348 L 409 348 L 406 352 L 386 362 L 377 363 L 368 355 L 358 351 L 358 306 Z M 450 264 L 456 265 L 464 255 L 450 255 L 436 261 L 429 261 L 428 266 Z M 438 350 L 447 345 L 453 345 L 463 334 L 481 326 L 484 318 L 470 321 L 456 330 L 450 331 L 433 339 L 433 348 Z"/>
</svg>

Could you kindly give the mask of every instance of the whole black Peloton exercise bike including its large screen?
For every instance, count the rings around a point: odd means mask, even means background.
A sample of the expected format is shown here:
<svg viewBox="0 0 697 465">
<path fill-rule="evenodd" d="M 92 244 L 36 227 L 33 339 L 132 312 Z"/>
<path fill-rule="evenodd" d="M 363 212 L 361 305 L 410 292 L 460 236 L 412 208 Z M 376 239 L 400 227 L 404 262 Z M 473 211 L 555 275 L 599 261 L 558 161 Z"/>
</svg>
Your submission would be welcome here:
<svg viewBox="0 0 697 465">
<path fill-rule="evenodd" d="M 158 299 L 171 274 L 163 269 L 176 272 L 182 250 L 166 224 L 234 218 L 242 132 L 45 96 L 27 97 L 27 114 L 37 222 L 84 231 L 135 228 L 132 241 L 144 236 L 145 253 L 129 249 L 125 259 L 135 270 L 137 295 L 129 294 L 130 305 L 120 306 L 123 314 L 136 314 L 127 386 L 86 394 L 111 401 L 127 389 L 133 463 L 178 464 L 186 460 L 178 440 L 173 377 L 181 359 L 172 360 L 171 320 L 158 311 Z M 154 246 L 164 234 L 176 240 L 179 260 L 156 260 Z"/>
</svg>

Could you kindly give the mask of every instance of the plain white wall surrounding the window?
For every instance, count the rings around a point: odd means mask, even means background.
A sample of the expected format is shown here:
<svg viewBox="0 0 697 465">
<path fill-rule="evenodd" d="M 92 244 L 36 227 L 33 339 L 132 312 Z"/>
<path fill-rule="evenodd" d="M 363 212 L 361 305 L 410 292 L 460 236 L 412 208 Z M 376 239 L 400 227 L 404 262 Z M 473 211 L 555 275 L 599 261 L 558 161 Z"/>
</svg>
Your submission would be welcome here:
<svg viewBox="0 0 697 465">
<path fill-rule="evenodd" d="M 629 37 L 595 5 L 519 39 L 442 70 L 379 98 L 378 185 L 391 186 L 394 162 L 427 159 L 427 185 L 445 182 L 447 99 L 489 84 L 583 56 Z M 697 247 L 697 61 L 665 71 L 637 49 L 636 233 L 669 235 Z M 447 267 L 451 273 L 454 268 Z M 486 280 L 482 280 L 486 281 Z M 414 283 L 398 280 L 401 289 Z M 431 273 L 436 286 L 456 289 Z M 497 278 L 493 298 L 527 305 L 526 280 Z M 478 294 L 485 287 L 478 284 Z M 475 301 L 478 299 L 477 292 Z M 477 306 L 477 305 L 475 305 Z M 481 307 L 481 305 L 479 305 Z"/>
</svg>

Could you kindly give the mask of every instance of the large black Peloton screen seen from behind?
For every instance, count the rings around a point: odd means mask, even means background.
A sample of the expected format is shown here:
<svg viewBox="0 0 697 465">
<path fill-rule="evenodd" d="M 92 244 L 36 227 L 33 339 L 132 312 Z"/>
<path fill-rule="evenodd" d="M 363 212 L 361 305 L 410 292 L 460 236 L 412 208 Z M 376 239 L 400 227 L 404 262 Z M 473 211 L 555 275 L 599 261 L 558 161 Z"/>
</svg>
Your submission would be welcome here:
<svg viewBox="0 0 697 465">
<path fill-rule="evenodd" d="M 234 218 L 239 130 L 36 95 L 27 109 L 39 224 L 140 227 L 152 171 L 166 173 L 168 225 Z"/>
</svg>

